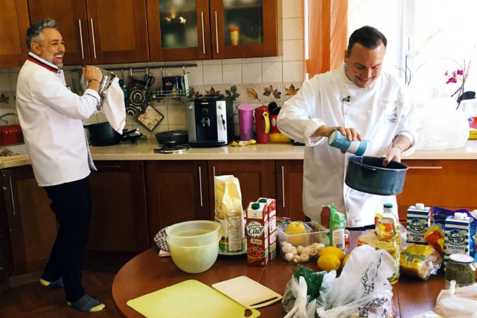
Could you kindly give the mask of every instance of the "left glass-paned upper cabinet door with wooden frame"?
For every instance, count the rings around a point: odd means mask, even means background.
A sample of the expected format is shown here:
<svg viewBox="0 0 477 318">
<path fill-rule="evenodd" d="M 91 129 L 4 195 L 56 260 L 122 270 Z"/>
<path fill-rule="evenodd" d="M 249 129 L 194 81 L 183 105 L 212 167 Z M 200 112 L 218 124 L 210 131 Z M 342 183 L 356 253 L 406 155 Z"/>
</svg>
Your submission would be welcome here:
<svg viewBox="0 0 477 318">
<path fill-rule="evenodd" d="M 208 0 L 146 0 L 151 61 L 210 59 Z"/>
</svg>

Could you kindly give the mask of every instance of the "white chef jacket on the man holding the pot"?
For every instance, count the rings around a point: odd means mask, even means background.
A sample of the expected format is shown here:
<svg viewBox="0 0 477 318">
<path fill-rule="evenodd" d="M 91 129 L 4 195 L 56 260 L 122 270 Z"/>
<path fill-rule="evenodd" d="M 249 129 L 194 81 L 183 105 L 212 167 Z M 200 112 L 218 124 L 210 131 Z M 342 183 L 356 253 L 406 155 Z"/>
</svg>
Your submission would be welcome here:
<svg viewBox="0 0 477 318">
<path fill-rule="evenodd" d="M 280 132 L 305 143 L 303 162 L 303 211 L 319 220 L 323 206 L 334 203 L 345 214 L 347 227 L 374 224 L 374 216 L 395 196 L 378 196 L 349 188 L 345 184 L 350 153 L 329 146 L 327 137 L 310 137 L 322 125 L 355 128 L 368 140 L 364 155 L 385 156 L 397 135 L 411 140 L 414 151 L 418 121 L 412 117 L 414 105 L 406 97 L 399 79 L 382 72 L 366 88 L 359 88 L 345 75 L 345 68 L 315 75 L 305 81 L 298 93 L 281 108 L 277 125 Z M 414 116 L 415 117 L 415 116 Z"/>
</svg>

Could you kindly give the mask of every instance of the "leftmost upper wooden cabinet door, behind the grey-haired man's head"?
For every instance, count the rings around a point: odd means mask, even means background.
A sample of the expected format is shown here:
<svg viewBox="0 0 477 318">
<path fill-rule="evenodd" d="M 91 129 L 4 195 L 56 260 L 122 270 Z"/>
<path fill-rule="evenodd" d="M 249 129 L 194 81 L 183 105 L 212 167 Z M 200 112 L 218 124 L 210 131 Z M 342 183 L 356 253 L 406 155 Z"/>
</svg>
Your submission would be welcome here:
<svg viewBox="0 0 477 318">
<path fill-rule="evenodd" d="M 21 66 L 28 54 L 27 0 L 0 0 L 0 8 L 0 67 Z"/>
</svg>

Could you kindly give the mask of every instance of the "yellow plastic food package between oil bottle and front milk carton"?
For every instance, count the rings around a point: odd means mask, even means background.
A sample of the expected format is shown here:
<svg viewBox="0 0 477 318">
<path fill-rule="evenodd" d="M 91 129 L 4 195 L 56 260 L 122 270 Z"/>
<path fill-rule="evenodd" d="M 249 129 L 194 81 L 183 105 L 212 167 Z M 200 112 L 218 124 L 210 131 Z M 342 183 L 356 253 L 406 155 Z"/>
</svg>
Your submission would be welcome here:
<svg viewBox="0 0 477 318">
<path fill-rule="evenodd" d="M 427 280 L 442 266 L 442 257 L 430 245 L 409 244 L 401 251 L 401 273 Z"/>
</svg>

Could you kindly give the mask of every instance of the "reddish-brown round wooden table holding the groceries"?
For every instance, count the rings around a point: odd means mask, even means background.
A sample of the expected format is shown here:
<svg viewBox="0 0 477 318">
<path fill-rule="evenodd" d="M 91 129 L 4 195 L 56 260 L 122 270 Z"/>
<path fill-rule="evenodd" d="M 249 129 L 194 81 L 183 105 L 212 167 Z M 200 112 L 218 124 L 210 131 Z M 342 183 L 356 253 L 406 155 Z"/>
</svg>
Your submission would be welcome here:
<svg viewBox="0 0 477 318">
<path fill-rule="evenodd" d="M 359 232 L 351 232 L 352 249 Z M 317 271 L 316 262 L 305 263 Z M 159 257 L 155 248 L 150 248 L 127 262 L 116 274 L 112 284 L 112 296 L 119 310 L 127 317 L 143 317 L 129 307 L 126 302 L 152 291 L 162 289 L 188 279 L 196 279 L 208 286 L 214 283 L 245 275 L 283 295 L 285 285 L 290 280 L 295 264 L 287 263 L 280 255 L 264 267 L 247 265 L 246 255 L 219 255 L 214 265 L 207 271 L 189 274 L 180 270 L 171 257 Z M 417 277 L 401 275 L 393 285 L 393 303 L 398 317 L 411 318 L 414 315 L 433 310 L 440 290 L 444 288 L 442 274 L 432 275 L 423 281 Z M 260 317 L 283 317 L 285 312 L 280 301 L 258 308 Z"/>
</svg>

